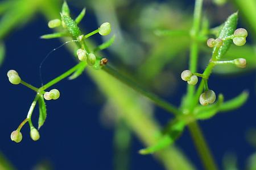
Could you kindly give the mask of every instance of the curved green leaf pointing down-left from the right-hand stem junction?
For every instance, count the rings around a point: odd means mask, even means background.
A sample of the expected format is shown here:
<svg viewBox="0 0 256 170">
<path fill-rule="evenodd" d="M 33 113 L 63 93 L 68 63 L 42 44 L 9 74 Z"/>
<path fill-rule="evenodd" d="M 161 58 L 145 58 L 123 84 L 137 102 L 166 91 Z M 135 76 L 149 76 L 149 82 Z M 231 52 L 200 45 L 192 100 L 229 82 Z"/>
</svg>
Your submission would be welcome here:
<svg viewBox="0 0 256 170">
<path fill-rule="evenodd" d="M 156 151 L 162 150 L 163 148 L 170 146 L 170 144 L 174 143 L 175 140 L 179 138 L 184 130 L 184 127 L 185 122 L 175 119 L 172 123 L 170 131 L 167 134 L 163 135 L 155 145 L 139 150 L 139 154 L 153 154 Z"/>
</svg>

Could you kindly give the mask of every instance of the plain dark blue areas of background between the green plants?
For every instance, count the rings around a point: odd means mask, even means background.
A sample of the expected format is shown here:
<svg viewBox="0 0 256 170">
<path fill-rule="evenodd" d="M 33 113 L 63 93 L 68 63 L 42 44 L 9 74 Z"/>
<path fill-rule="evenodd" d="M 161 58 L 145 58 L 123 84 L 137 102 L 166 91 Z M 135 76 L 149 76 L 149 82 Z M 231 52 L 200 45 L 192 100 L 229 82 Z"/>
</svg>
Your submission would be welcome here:
<svg viewBox="0 0 256 170">
<path fill-rule="evenodd" d="M 47 102 L 48 117 L 40 130 L 38 142 L 30 139 L 27 125 L 22 129 L 21 143 L 10 140 L 11 131 L 26 117 L 35 93 L 22 85 L 11 85 L 6 73 L 15 69 L 24 81 L 40 86 L 39 65 L 49 51 L 61 44 L 59 40 L 39 39 L 46 30 L 44 18 L 38 16 L 5 40 L 6 60 L 0 68 L 0 150 L 18 169 L 31 169 L 42 160 L 50 161 L 54 169 L 113 169 L 113 131 L 102 127 L 99 121 L 104 98 L 85 74 L 76 80 L 63 80 L 53 86 L 60 90 L 61 97 Z M 61 48 L 44 63 L 44 81 L 51 80 L 75 64 L 68 51 Z M 254 152 L 246 142 L 245 132 L 256 127 L 255 72 L 234 77 L 212 76 L 209 84 L 216 92 L 223 93 L 226 99 L 237 96 L 244 89 L 250 92 L 247 103 L 240 109 L 200 122 L 218 165 L 221 165 L 222 156 L 231 151 L 237 154 L 240 167 L 243 167 L 247 156 Z M 179 101 L 177 98 L 185 93 L 184 89 L 185 84 L 180 84 L 170 101 Z M 156 108 L 156 113 L 163 122 L 170 118 L 162 109 Z M 37 109 L 33 114 L 34 122 L 36 115 Z M 187 131 L 176 143 L 196 167 L 202 169 Z M 138 154 L 142 147 L 134 137 L 130 169 L 162 169 L 152 156 Z"/>
</svg>

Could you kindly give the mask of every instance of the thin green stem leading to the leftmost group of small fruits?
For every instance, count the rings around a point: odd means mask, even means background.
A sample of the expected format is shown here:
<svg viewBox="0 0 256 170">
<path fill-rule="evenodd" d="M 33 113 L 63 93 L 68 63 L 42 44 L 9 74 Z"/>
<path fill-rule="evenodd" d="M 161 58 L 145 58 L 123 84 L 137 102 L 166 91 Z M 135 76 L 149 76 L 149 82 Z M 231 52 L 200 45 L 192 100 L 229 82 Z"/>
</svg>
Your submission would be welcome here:
<svg viewBox="0 0 256 170">
<path fill-rule="evenodd" d="M 69 69 L 67 72 L 61 74 L 60 76 L 54 78 L 53 80 L 49 81 L 46 85 L 43 85 L 39 90 L 46 90 L 47 88 L 51 87 L 52 85 L 56 84 L 57 82 L 63 80 L 64 78 L 71 75 L 73 72 L 75 72 L 78 68 L 80 68 L 84 63 L 80 62 L 79 64 L 75 65 L 71 69 Z"/>
</svg>

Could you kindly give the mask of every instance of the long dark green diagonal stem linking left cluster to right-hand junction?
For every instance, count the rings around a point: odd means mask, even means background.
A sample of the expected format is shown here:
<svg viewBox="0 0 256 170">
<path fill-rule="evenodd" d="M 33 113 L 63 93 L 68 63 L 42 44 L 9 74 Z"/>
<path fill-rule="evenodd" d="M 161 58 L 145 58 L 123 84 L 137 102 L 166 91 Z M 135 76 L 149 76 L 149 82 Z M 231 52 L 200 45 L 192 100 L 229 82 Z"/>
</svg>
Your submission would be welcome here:
<svg viewBox="0 0 256 170">
<path fill-rule="evenodd" d="M 158 96 L 156 96 L 153 93 L 148 92 L 147 90 L 144 90 L 144 88 L 142 88 L 141 86 L 139 86 L 135 82 L 129 80 L 127 77 L 124 77 L 121 73 L 115 71 L 115 69 L 113 69 L 109 65 L 106 65 L 102 69 L 105 72 L 112 75 L 113 77 L 117 78 L 119 81 L 121 81 L 124 84 L 126 84 L 127 86 L 129 86 L 130 88 L 132 88 L 135 91 L 143 94 L 143 96 L 146 96 L 147 98 L 151 99 L 151 101 L 153 101 L 159 107 L 162 107 L 163 109 L 165 109 L 165 110 L 167 110 L 171 113 L 174 113 L 175 115 L 180 114 L 180 111 L 175 106 L 171 105 L 171 103 L 169 103 L 167 101 L 164 101 L 163 99 L 159 98 Z"/>
</svg>

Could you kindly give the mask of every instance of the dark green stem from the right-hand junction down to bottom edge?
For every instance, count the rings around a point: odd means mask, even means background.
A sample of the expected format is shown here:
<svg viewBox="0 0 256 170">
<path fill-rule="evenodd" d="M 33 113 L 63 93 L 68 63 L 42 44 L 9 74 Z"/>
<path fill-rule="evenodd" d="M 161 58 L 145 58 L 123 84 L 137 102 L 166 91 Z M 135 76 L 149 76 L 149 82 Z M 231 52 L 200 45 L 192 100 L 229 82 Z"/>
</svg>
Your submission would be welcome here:
<svg viewBox="0 0 256 170">
<path fill-rule="evenodd" d="M 208 170 L 218 169 L 216 164 L 213 161 L 213 157 L 210 154 L 209 147 L 207 146 L 207 143 L 205 142 L 204 136 L 203 136 L 197 122 L 195 121 L 195 122 L 189 123 L 188 130 L 191 133 L 192 139 L 197 148 L 197 152 L 199 153 L 199 156 L 200 156 L 201 160 L 203 161 L 204 169 L 208 169 Z"/>
</svg>

